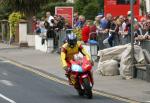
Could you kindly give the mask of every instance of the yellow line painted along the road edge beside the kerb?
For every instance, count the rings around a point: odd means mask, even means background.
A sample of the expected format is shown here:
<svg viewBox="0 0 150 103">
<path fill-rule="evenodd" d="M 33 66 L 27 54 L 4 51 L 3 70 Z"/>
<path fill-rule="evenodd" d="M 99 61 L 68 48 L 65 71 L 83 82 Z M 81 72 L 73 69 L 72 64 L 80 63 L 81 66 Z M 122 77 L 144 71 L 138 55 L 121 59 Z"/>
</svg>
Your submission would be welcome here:
<svg viewBox="0 0 150 103">
<path fill-rule="evenodd" d="M 10 63 L 13 64 L 13 65 L 16 65 L 16 66 L 18 66 L 20 68 L 23 68 L 23 69 L 26 69 L 28 71 L 31 71 L 31 72 L 33 72 L 33 73 L 35 73 L 37 75 L 42 76 L 42 77 L 45 77 L 45 78 L 47 78 L 49 80 L 53 80 L 55 82 L 58 82 L 58 83 L 61 83 L 61 84 L 69 86 L 68 82 L 65 82 L 63 80 L 57 79 L 57 78 L 55 78 L 53 76 L 49 76 L 49 75 L 47 75 L 45 73 L 42 73 L 42 72 L 40 72 L 38 70 L 35 70 L 33 68 L 30 68 L 30 67 L 27 67 L 27 66 L 23 66 L 23 65 L 21 65 L 19 63 L 16 63 L 14 61 L 10 61 Z M 137 101 L 134 101 L 134 100 L 130 100 L 128 98 L 118 97 L 118 96 L 115 96 L 115 95 L 111 95 L 111 94 L 100 92 L 100 91 L 96 91 L 96 90 L 93 90 L 93 93 L 97 94 L 97 95 L 105 96 L 105 97 L 108 97 L 108 98 L 112 98 L 112 99 L 115 99 L 115 100 L 127 102 L 127 103 L 140 103 L 140 102 L 137 102 Z"/>
</svg>

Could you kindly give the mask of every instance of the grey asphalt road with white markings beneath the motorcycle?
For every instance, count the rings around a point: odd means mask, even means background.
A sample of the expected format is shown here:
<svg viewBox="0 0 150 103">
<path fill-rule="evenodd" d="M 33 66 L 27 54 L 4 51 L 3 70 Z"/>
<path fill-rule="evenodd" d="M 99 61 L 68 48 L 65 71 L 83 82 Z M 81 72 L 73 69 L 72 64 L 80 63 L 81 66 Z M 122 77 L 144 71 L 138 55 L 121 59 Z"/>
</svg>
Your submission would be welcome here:
<svg viewBox="0 0 150 103">
<path fill-rule="evenodd" d="M 0 103 L 125 103 L 100 95 L 79 97 L 73 87 L 0 60 Z"/>
</svg>

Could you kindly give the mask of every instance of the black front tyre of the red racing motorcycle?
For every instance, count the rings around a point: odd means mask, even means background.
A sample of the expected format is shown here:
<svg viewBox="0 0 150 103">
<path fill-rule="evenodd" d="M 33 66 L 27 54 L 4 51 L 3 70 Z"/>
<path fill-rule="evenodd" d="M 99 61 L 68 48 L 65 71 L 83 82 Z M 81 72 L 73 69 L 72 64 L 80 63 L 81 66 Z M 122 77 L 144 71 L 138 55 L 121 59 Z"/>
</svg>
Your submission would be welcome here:
<svg viewBox="0 0 150 103">
<path fill-rule="evenodd" d="M 92 99 L 93 98 L 92 87 L 90 86 L 90 81 L 88 78 L 83 79 L 83 87 L 85 89 L 85 94 L 87 98 Z"/>
</svg>

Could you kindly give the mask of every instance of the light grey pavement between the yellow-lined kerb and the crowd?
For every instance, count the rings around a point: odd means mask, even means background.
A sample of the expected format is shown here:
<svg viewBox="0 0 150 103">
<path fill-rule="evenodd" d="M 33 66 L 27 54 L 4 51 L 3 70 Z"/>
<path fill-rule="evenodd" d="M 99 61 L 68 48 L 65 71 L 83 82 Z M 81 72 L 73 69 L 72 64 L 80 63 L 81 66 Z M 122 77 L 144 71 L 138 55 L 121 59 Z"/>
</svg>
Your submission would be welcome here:
<svg viewBox="0 0 150 103">
<path fill-rule="evenodd" d="M 59 54 L 44 53 L 34 48 L 19 48 L 17 46 L 8 48 L 6 48 L 5 44 L 0 43 L 0 57 L 66 80 L 64 70 L 61 67 Z M 93 68 L 95 90 L 113 96 L 135 100 L 140 103 L 150 103 L 149 82 L 138 79 L 123 80 L 121 76 L 101 76 L 96 72 L 96 68 L 97 64 Z"/>
</svg>

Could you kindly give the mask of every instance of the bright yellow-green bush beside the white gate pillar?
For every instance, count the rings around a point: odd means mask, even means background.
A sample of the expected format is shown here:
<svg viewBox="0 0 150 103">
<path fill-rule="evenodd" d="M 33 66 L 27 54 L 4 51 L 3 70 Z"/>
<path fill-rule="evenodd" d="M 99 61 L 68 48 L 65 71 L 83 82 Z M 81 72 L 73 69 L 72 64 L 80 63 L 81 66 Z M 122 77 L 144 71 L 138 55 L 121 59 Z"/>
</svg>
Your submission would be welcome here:
<svg viewBox="0 0 150 103">
<path fill-rule="evenodd" d="M 13 12 L 9 15 L 10 36 L 15 35 L 16 27 L 23 15 L 20 12 Z"/>
</svg>

